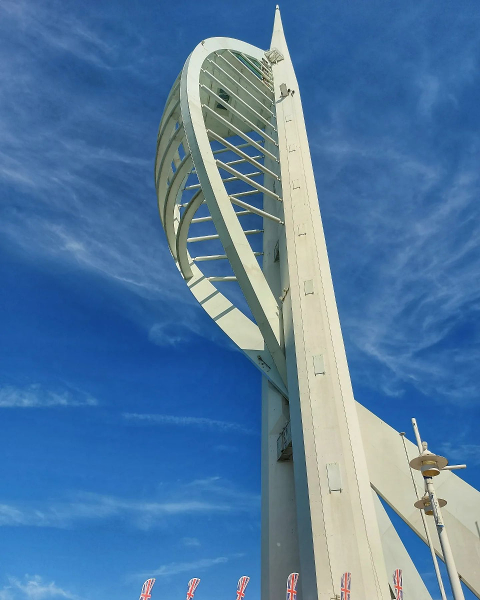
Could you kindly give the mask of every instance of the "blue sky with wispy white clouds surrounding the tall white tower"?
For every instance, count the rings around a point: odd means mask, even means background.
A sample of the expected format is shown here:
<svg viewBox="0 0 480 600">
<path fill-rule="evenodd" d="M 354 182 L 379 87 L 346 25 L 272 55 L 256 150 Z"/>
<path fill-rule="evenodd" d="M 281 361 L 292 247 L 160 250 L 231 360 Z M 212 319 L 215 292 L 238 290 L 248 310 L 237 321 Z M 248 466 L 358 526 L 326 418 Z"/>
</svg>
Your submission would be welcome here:
<svg viewBox="0 0 480 600">
<path fill-rule="evenodd" d="M 1 600 L 259 598 L 260 376 L 179 277 L 152 172 L 193 47 L 267 48 L 274 8 L 0 2 Z M 478 4 L 280 8 L 356 398 L 478 488 Z"/>
</svg>

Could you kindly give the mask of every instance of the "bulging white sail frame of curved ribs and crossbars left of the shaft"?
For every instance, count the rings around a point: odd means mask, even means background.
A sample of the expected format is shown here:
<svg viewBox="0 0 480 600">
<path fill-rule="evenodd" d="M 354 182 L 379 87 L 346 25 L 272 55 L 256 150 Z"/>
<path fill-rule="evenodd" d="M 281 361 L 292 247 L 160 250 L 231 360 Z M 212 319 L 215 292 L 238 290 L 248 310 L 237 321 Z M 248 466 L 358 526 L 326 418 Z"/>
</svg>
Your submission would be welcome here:
<svg viewBox="0 0 480 600">
<path fill-rule="evenodd" d="M 256 205 L 263 194 L 279 199 L 261 183 L 264 175 L 272 180 L 279 177 L 271 166 L 263 165 L 264 155 L 268 155 L 270 164 L 278 164 L 278 157 L 277 140 L 272 137 L 276 135 L 276 124 L 269 82 L 256 82 L 257 76 L 250 68 L 256 68 L 255 61 L 261 62 L 262 58 L 263 50 L 229 38 L 205 40 L 194 49 L 173 85 L 160 122 L 155 184 L 169 248 L 191 292 L 248 358 L 287 395 L 281 310 L 259 265 L 262 253 L 250 247 L 232 204 L 246 209 L 239 211 L 241 215 L 283 223 L 281 208 L 278 214 L 270 214 L 263 210 L 262 203 Z M 240 142 L 235 141 L 236 136 Z M 240 160 L 215 160 L 219 150 L 212 150 L 211 139 L 221 144 L 220 151 L 233 152 Z M 264 148 L 263 140 L 269 149 Z M 257 170 L 246 170 L 249 164 Z M 231 176 L 225 177 L 225 170 Z M 197 176 L 198 183 L 190 176 Z M 241 186 L 241 191 L 227 189 L 229 185 Z M 251 205 L 238 200 L 250 195 L 254 200 Z M 205 205 L 209 216 L 203 217 L 202 212 L 202 218 L 194 220 L 200 206 Z M 187 243 L 188 239 L 198 238 L 189 233 L 190 227 L 200 227 L 198 223 L 215 226 L 235 277 L 208 277 L 194 263 Z M 215 236 L 199 237 L 212 238 Z M 209 268 L 208 261 L 201 263 L 204 269 Z M 212 281 L 238 281 L 256 323 L 227 300 Z"/>
</svg>

